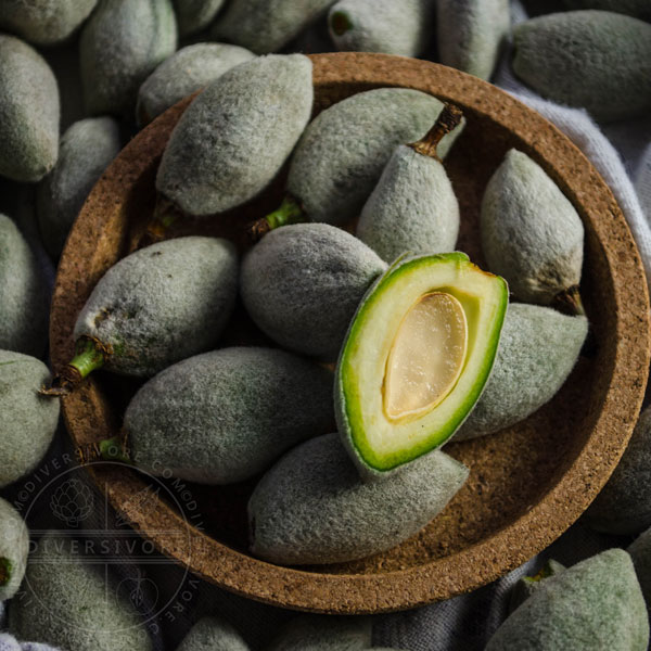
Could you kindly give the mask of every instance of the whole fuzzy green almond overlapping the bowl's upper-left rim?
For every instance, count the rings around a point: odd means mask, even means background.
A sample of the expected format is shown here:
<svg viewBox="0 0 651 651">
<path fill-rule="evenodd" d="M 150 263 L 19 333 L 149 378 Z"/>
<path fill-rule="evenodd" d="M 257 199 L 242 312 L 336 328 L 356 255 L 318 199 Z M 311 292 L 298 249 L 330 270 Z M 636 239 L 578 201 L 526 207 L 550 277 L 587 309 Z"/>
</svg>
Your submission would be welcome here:
<svg viewBox="0 0 651 651">
<path fill-rule="evenodd" d="M 264 190 L 311 115 L 311 62 L 258 56 L 209 84 L 175 127 L 156 189 L 191 215 L 234 208 Z"/>
</svg>

